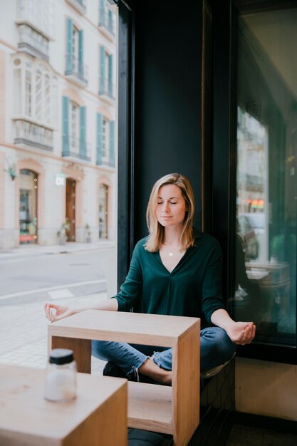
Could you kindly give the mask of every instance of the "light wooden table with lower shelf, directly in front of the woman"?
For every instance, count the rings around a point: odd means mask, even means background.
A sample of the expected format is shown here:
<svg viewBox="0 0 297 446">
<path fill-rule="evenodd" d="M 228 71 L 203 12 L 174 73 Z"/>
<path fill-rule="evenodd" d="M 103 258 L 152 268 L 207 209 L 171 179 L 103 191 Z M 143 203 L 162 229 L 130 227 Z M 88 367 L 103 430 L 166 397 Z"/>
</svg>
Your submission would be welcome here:
<svg viewBox="0 0 297 446">
<path fill-rule="evenodd" d="M 71 348 L 85 373 L 92 339 L 172 347 L 172 387 L 128 383 L 128 426 L 187 445 L 199 424 L 199 318 L 88 310 L 48 325 L 49 350 Z"/>
</svg>

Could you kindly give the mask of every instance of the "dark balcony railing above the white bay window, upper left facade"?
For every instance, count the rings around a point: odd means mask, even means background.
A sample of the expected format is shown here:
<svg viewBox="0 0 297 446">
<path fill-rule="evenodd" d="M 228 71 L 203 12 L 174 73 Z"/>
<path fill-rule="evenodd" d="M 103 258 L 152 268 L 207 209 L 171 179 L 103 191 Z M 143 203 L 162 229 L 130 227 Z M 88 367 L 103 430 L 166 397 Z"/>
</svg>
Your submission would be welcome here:
<svg viewBox="0 0 297 446">
<path fill-rule="evenodd" d="M 49 41 L 42 34 L 28 25 L 19 26 L 18 48 L 32 56 L 38 56 L 48 61 Z"/>
</svg>

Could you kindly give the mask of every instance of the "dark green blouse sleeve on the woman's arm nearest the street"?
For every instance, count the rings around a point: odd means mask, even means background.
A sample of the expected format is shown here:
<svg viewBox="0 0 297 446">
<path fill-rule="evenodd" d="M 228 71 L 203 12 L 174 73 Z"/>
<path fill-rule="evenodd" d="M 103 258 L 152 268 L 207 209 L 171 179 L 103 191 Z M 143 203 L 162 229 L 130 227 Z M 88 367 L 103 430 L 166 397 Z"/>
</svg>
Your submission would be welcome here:
<svg viewBox="0 0 297 446">
<path fill-rule="evenodd" d="M 138 242 L 133 251 L 130 269 L 125 282 L 120 286 L 118 294 L 113 296 L 113 299 L 118 301 L 118 311 L 130 311 L 142 294 L 142 271 L 138 256 L 139 249 L 140 243 Z"/>
</svg>

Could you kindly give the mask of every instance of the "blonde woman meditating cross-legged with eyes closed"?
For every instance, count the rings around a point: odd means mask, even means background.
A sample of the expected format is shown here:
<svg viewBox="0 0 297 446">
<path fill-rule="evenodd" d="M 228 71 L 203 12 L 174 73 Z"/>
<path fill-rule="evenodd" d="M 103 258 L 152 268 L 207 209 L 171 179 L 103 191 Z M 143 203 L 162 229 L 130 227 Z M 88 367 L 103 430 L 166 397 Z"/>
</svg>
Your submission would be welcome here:
<svg viewBox="0 0 297 446">
<path fill-rule="evenodd" d="M 219 243 L 193 228 L 194 195 L 182 175 L 160 178 L 147 206 L 149 236 L 137 243 L 120 292 L 96 309 L 130 311 L 137 303 L 143 313 L 200 317 L 201 371 L 217 367 L 234 356 L 236 344 L 250 343 L 253 322 L 235 322 L 221 296 L 222 254 Z M 87 308 L 46 304 L 46 317 L 58 321 Z M 93 341 L 92 354 L 120 368 L 134 380 L 139 373 L 170 385 L 172 349 Z"/>
</svg>

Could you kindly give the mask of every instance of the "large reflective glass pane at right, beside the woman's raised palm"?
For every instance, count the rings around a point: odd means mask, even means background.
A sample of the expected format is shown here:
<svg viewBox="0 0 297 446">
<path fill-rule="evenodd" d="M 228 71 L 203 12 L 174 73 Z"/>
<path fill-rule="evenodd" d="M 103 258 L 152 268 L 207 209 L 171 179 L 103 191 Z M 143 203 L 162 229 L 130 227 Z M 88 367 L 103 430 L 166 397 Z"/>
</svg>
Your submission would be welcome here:
<svg viewBox="0 0 297 446">
<path fill-rule="evenodd" d="M 296 346 L 297 9 L 239 16 L 237 320 Z"/>
</svg>

